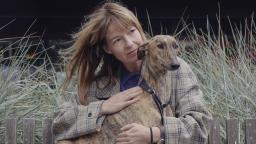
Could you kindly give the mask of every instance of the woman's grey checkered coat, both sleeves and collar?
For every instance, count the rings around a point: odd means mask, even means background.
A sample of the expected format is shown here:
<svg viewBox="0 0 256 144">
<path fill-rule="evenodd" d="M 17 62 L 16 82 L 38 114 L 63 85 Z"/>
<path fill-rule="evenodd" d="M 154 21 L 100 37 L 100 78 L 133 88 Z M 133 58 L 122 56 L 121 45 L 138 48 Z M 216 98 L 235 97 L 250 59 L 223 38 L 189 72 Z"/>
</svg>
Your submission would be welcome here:
<svg viewBox="0 0 256 144">
<path fill-rule="evenodd" d="M 189 65 L 178 59 L 180 68 L 166 74 L 166 85 L 172 82 L 169 90 L 162 92 L 163 102 L 169 104 L 174 116 L 164 117 L 166 144 L 201 144 L 207 143 L 208 120 L 211 114 L 204 104 L 202 92 L 196 76 Z M 102 80 L 98 84 L 104 85 Z M 92 83 L 88 90 L 86 106 L 79 103 L 64 103 L 55 112 L 53 133 L 56 140 L 79 137 L 100 131 L 105 116 L 99 116 L 102 99 L 118 93 L 120 82 L 109 85 L 104 89 Z M 166 92 L 167 91 L 167 92 Z"/>
</svg>

